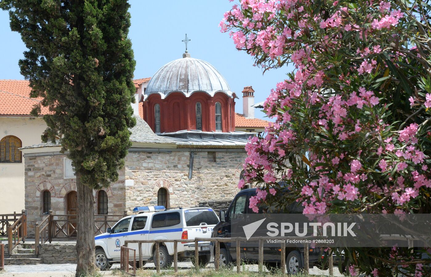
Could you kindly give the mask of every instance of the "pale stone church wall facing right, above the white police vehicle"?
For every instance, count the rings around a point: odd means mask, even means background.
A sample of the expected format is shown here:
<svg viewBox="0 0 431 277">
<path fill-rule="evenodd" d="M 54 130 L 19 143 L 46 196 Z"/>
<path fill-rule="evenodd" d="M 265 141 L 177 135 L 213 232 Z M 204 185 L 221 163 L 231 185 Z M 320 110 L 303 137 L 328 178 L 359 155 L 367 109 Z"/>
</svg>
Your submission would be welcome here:
<svg viewBox="0 0 431 277">
<path fill-rule="evenodd" d="M 195 152 L 189 180 L 189 151 L 130 151 L 125 161 L 126 209 L 157 205 L 161 187 L 169 192 L 169 207 L 230 202 L 239 191 L 237 183 L 245 157 L 245 152 Z"/>
</svg>

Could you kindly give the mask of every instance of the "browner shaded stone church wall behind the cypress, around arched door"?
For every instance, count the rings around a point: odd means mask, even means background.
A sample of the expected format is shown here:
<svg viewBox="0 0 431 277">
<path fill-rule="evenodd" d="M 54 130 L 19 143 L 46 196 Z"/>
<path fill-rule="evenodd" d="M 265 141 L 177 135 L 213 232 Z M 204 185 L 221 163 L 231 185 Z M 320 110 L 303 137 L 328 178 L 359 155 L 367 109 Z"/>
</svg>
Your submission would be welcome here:
<svg viewBox="0 0 431 277">
<path fill-rule="evenodd" d="M 25 160 L 25 210 L 28 238 L 34 238 L 35 223 L 43 221 L 43 191 L 51 193 L 54 215 L 66 214 L 67 194 L 76 191 L 76 179 L 64 177 L 64 158 L 67 155 L 28 156 Z M 108 214 L 123 215 L 125 210 L 124 169 L 119 181 L 104 189 L 108 195 Z M 97 214 L 97 192 L 94 190 L 94 212 Z M 56 219 L 56 218 L 55 218 Z M 112 218 L 109 218 L 112 219 Z M 115 218 L 117 220 L 118 218 Z M 62 224 L 60 224 L 61 226 Z"/>
</svg>

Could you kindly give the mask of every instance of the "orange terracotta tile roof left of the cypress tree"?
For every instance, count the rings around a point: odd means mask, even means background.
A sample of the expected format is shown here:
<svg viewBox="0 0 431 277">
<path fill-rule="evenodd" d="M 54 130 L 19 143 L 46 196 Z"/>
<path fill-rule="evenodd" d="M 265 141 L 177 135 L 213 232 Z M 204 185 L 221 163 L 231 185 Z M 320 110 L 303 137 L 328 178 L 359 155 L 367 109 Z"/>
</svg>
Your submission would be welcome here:
<svg viewBox="0 0 431 277">
<path fill-rule="evenodd" d="M 31 87 L 25 80 L 0 80 L 0 115 L 30 115 L 41 98 L 30 98 Z M 42 107 L 42 115 L 49 112 Z"/>
</svg>

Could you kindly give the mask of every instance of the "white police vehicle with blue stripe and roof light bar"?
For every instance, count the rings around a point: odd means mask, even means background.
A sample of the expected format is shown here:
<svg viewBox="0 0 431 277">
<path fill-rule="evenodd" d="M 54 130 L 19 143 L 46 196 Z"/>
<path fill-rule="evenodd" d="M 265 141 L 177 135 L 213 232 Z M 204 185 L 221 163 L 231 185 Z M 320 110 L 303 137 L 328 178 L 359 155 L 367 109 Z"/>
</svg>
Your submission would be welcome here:
<svg viewBox="0 0 431 277">
<path fill-rule="evenodd" d="M 96 265 L 106 270 L 112 263 L 120 261 L 120 247 L 125 240 L 178 240 L 196 237 L 211 237 L 219 218 L 211 208 L 172 208 L 163 206 L 136 207 L 136 215 L 120 219 L 106 233 L 94 237 L 96 243 Z M 160 243 L 160 267 L 172 265 L 174 243 Z M 137 243 L 129 243 L 136 249 Z M 155 243 L 142 243 L 142 256 L 145 261 L 154 260 Z M 194 256 L 194 243 L 178 243 L 178 260 Z M 199 242 L 199 263 L 206 265 L 210 259 L 209 242 Z M 139 266 L 139 263 L 136 265 Z"/>
</svg>

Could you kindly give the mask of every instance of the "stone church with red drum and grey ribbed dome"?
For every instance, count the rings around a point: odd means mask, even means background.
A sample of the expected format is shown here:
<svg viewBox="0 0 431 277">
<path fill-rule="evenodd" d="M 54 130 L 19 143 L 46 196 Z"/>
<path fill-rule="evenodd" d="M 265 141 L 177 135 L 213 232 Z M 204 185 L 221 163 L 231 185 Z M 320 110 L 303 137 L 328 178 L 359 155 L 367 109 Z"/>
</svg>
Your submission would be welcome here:
<svg viewBox="0 0 431 277">
<path fill-rule="evenodd" d="M 235 131 L 238 117 L 245 122 L 256 119 L 235 113 L 238 97 L 222 74 L 187 52 L 152 78 L 134 83 L 137 124 L 131 129 L 132 146 L 119 180 L 94 191 L 95 214 L 120 215 L 143 205 L 205 204 L 218 209 L 229 203 L 238 192 L 247 139 L 263 131 L 268 121 L 258 119 L 259 126 L 254 126 L 256 122 L 245 126 L 252 133 Z M 253 96 L 250 89 L 244 88 L 243 97 Z M 254 109 L 251 104 L 249 109 Z M 19 149 L 30 236 L 49 210 L 53 214 L 77 212 L 75 174 L 67 153 L 59 153 L 58 143 Z"/>
</svg>

